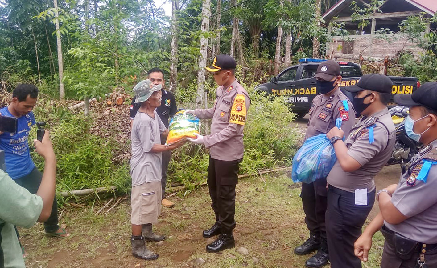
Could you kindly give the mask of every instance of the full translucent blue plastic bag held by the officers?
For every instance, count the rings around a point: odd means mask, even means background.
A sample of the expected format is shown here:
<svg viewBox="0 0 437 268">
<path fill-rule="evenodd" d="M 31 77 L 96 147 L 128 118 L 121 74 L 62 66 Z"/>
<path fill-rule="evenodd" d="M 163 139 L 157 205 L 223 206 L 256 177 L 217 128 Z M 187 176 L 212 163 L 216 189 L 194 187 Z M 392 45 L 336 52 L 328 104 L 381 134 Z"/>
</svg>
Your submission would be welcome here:
<svg viewBox="0 0 437 268">
<path fill-rule="evenodd" d="M 341 122 L 341 118 L 337 118 L 335 126 L 340 128 Z M 293 158 L 291 179 L 295 183 L 312 183 L 326 178 L 336 161 L 334 146 L 326 134 L 311 137 L 303 143 Z"/>
</svg>

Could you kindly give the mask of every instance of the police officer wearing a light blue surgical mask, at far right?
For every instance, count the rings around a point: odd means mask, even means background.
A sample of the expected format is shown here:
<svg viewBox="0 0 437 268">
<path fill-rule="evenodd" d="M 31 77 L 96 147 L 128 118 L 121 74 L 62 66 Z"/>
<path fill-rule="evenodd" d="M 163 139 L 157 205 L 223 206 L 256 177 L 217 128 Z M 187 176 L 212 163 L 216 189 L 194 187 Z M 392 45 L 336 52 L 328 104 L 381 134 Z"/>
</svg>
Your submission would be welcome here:
<svg viewBox="0 0 437 268">
<path fill-rule="evenodd" d="M 399 183 L 379 190 L 380 213 L 355 242 L 355 254 L 367 261 L 372 236 L 385 237 L 382 268 L 437 267 L 437 82 L 427 82 L 413 95 L 396 95 L 411 106 L 405 122 L 408 136 L 423 148 L 408 163 Z M 420 266 L 420 265 L 423 266 Z"/>
</svg>

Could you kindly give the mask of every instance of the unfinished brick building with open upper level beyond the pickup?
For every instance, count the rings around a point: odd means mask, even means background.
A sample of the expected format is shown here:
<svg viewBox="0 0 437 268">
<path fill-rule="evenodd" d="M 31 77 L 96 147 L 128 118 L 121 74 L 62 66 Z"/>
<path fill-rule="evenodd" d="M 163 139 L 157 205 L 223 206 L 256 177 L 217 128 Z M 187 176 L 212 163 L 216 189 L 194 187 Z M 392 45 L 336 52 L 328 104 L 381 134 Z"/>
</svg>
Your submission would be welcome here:
<svg viewBox="0 0 437 268">
<path fill-rule="evenodd" d="M 399 31 L 399 24 L 411 15 L 425 13 L 425 16 L 432 17 L 437 12 L 437 0 L 387 0 L 379 8 L 379 11 L 368 17 L 369 23 L 364 28 L 358 27 L 358 21 L 353 19 L 354 10 L 351 8 L 353 0 L 339 0 L 325 14 L 323 19 L 328 24 L 335 21 L 343 24 L 343 30 L 355 35 L 332 36 L 328 27 L 328 34 L 332 41 L 326 43 L 326 56 L 329 58 L 358 58 L 371 57 L 381 59 L 395 56 L 399 51 L 408 50 L 417 57 L 423 52 L 417 47 L 414 41 L 408 40 L 403 34 L 378 35 L 375 32 L 381 28 L 392 32 Z M 369 0 L 356 1 L 357 5 L 364 8 L 364 2 Z M 427 31 L 435 25 L 427 25 Z"/>
</svg>

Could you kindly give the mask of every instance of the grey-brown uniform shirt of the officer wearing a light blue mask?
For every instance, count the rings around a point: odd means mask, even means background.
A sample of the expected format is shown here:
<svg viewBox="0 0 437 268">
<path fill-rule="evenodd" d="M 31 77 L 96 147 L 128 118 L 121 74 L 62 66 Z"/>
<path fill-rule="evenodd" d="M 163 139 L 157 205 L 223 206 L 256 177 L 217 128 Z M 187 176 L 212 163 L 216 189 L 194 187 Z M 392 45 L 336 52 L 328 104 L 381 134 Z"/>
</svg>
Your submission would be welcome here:
<svg viewBox="0 0 437 268">
<path fill-rule="evenodd" d="M 437 244 L 437 140 L 410 161 L 393 193 L 392 204 L 406 217 L 388 229 L 426 244 Z"/>
</svg>

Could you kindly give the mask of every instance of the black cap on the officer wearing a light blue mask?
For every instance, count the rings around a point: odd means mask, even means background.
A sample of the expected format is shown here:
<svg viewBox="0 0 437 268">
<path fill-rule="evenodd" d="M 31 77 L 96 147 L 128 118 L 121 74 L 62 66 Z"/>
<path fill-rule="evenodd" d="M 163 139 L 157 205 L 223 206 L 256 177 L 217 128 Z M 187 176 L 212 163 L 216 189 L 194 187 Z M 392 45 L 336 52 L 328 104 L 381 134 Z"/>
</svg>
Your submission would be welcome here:
<svg viewBox="0 0 437 268">
<path fill-rule="evenodd" d="M 399 105 L 424 106 L 437 112 L 437 82 L 426 82 L 413 94 L 397 94 L 394 100 Z"/>
</svg>

